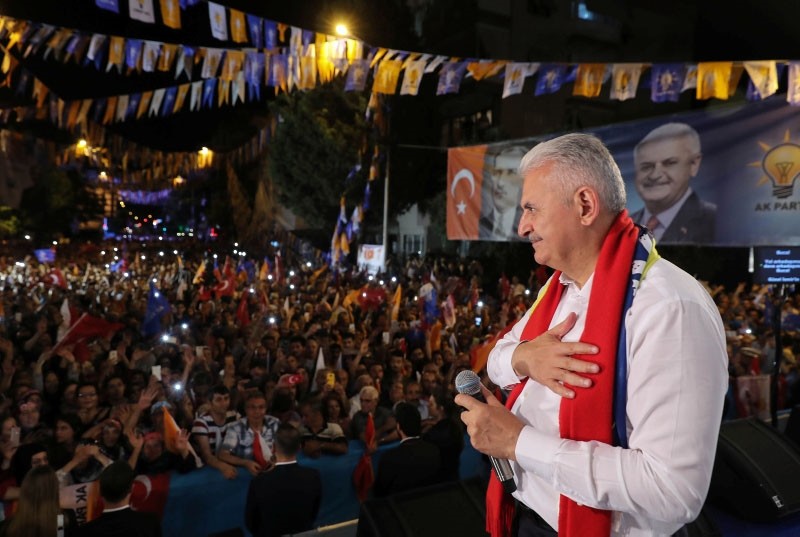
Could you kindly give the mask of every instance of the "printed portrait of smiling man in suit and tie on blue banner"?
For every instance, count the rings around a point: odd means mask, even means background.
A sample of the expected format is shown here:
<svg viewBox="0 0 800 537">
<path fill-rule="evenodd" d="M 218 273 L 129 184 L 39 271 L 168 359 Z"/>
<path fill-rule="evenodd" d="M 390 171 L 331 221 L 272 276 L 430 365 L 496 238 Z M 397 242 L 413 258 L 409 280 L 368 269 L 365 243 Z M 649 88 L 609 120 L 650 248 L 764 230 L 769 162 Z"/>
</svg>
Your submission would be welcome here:
<svg viewBox="0 0 800 537">
<path fill-rule="evenodd" d="M 650 131 L 633 150 L 634 185 L 644 208 L 631 214 L 662 243 L 713 243 L 717 207 L 701 200 L 689 181 L 702 160 L 700 137 L 685 123 Z"/>
</svg>

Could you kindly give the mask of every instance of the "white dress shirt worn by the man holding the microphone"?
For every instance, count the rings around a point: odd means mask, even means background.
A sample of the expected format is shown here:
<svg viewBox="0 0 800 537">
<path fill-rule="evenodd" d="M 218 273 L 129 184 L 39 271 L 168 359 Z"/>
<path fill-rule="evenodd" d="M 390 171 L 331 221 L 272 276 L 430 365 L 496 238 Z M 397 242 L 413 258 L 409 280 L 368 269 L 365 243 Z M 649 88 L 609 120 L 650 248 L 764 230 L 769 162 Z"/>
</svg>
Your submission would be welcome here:
<svg viewBox="0 0 800 537">
<path fill-rule="evenodd" d="M 580 341 L 592 280 L 578 289 L 562 277 L 566 289 L 550 327 L 578 314 L 562 341 Z M 511 356 L 529 317 L 530 311 L 489 356 L 495 384 L 519 381 Z M 512 461 L 514 497 L 556 530 L 560 494 L 614 511 L 611 534 L 629 537 L 672 535 L 696 518 L 705 501 L 728 385 L 717 308 L 697 281 L 660 259 L 647 272 L 625 327 L 629 449 L 562 439 L 561 398 L 535 381 L 512 408 L 525 423 Z M 585 389 L 575 388 L 576 397 Z"/>
</svg>

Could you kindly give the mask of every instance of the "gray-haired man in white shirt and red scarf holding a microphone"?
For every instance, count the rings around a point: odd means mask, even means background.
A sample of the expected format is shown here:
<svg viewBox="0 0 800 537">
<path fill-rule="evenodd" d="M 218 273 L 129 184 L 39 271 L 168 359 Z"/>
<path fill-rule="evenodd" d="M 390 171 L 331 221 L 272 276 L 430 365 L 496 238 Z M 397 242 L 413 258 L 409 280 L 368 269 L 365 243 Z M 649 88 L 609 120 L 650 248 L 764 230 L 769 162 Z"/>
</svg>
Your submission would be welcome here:
<svg viewBox="0 0 800 537">
<path fill-rule="evenodd" d="M 467 409 L 462 419 L 472 443 L 511 461 L 517 535 L 555 535 L 556 530 L 562 537 L 576 535 L 559 527 L 565 502 L 610 518 L 602 531 L 585 534 L 672 535 L 697 517 L 711 479 L 728 378 L 719 313 L 698 282 L 651 253 L 640 265 L 644 277 L 630 309 L 618 317 L 624 345 L 619 351 L 616 345 L 596 345 L 592 324 L 602 321 L 603 310 L 610 316 L 623 311 L 609 298 L 607 284 L 613 282 L 603 263 L 616 249 L 606 247 L 608 238 L 624 229 L 642 242 L 624 211 L 619 169 L 598 139 L 572 134 L 532 149 L 520 174 L 519 234 L 531 242 L 536 261 L 560 271 L 560 277 L 551 278 L 540 293 L 542 301 L 555 298 L 552 317 L 544 320 L 539 335 L 527 337 L 528 321 L 537 315 L 529 311 L 489 357 L 489 376 L 496 384 L 510 387 L 529 378 L 516 392 L 511 411 L 486 389 L 488 404 L 456 397 Z M 627 259 L 634 259 L 633 251 Z M 601 275 L 605 280 L 598 283 Z M 599 317 L 592 313 L 598 309 Z M 594 339 L 585 339 L 587 332 Z M 620 352 L 623 359 L 612 360 L 610 368 L 598 366 L 601 356 L 619 358 Z M 563 421 L 564 405 L 567 411 L 580 409 L 571 414 L 577 421 L 607 419 L 580 403 L 598 390 L 612 391 L 620 362 L 627 367 L 622 407 L 627 448 L 565 437 L 572 423 Z M 606 426 L 611 437 L 610 419 L 600 428 Z"/>
</svg>

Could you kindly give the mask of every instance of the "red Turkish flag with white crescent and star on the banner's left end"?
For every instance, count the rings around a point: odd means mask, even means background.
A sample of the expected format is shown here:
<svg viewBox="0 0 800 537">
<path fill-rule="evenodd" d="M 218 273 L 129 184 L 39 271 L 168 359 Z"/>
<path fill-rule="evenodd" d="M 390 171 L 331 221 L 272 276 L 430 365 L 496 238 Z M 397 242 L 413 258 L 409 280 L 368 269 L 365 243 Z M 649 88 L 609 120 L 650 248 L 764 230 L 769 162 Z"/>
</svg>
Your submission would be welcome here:
<svg viewBox="0 0 800 537">
<path fill-rule="evenodd" d="M 485 145 L 447 150 L 447 238 L 478 238 Z"/>
</svg>

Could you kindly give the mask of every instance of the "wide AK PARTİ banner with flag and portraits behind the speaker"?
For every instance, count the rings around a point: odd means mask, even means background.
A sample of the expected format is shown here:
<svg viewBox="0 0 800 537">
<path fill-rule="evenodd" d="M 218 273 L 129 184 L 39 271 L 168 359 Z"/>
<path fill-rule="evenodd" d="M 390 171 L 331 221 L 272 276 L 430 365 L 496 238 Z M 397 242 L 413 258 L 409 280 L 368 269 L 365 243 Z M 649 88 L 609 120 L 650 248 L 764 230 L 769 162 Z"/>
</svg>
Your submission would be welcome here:
<svg viewBox="0 0 800 537">
<path fill-rule="evenodd" d="M 785 96 L 586 132 L 608 146 L 628 211 L 659 243 L 800 243 L 800 108 Z M 525 151 L 555 136 L 449 149 L 447 238 L 519 240 L 516 169 Z"/>
</svg>

